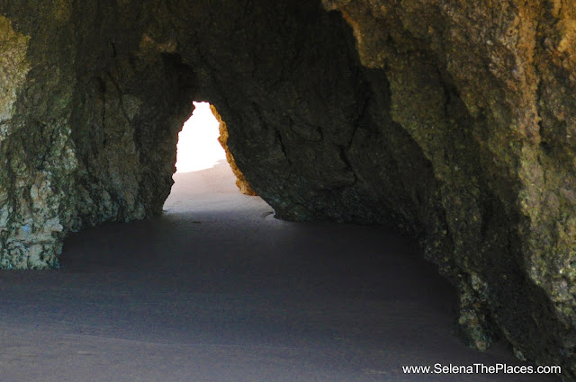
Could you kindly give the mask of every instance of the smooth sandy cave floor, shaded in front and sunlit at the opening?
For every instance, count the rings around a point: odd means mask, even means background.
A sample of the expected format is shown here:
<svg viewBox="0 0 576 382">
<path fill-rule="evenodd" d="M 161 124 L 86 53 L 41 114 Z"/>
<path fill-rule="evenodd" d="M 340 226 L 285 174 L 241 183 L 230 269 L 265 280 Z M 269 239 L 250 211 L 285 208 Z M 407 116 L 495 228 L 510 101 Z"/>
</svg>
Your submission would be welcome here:
<svg viewBox="0 0 576 382">
<path fill-rule="evenodd" d="M 453 290 L 381 227 L 294 224 L 227 164 L 178 173 L 163 216 L 67 239 L 58 271 L 0 271 L 0 381 L 554 381 L 406 375 L 517 364 L 451 333 Z"/>
</svg>

